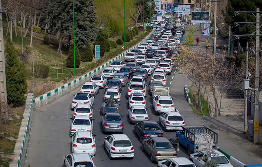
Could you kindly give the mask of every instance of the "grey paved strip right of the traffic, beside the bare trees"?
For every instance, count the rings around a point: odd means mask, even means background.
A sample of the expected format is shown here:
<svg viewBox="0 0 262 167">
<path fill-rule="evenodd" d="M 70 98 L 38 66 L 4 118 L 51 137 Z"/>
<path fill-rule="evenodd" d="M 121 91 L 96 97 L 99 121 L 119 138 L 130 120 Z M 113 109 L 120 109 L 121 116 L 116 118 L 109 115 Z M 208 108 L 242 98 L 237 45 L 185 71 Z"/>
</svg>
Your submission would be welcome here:
<svg viewBox="0 0 262 167">
<path fill-rule="evenodd" d="M 182 114 L 186 125 L 205 125 L 219 134 L 218 146 L 242 161 L 244 164 L 259 164 L 262 162 L 262 146 L 255 145 L 247 140 L 247 135 L 239 131 L 239 122 L 234 117 L 205 117 L 194 113 L 184 97 L 184 86 L 191 86 L 192 82 L 184 74 L 177 71 L 172 85 L 170 95 L 178 111 Z M 232 128 L 231 128 L 232 126 Z"/>
</svg>

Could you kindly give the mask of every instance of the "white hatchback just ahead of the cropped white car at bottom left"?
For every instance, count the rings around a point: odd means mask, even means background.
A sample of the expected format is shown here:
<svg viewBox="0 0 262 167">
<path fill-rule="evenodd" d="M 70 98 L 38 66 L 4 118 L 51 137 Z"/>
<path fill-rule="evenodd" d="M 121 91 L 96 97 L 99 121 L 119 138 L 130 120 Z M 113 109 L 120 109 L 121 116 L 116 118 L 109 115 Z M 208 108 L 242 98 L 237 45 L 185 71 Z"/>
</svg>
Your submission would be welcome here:
<svg viewBox="0 0 262 167">
<path fill-rule="evenodd" d="M 76 132 L 72 137 L 71 145 L 73 153 L 96 154 L 96 141 L 92 132 Z"/>
</svg>

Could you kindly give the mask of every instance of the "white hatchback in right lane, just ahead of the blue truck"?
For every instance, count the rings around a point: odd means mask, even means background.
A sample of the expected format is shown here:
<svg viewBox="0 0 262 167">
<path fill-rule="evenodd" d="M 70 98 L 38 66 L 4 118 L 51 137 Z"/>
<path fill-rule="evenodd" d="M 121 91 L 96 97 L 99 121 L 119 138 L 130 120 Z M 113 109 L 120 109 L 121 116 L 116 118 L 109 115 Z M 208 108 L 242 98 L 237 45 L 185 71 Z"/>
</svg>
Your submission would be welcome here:
<svg viewBox="0 0 262 167">
<path fill-rule="evenodd" d="M 159 116 L 159 123 L 167 130 L 183 130 L 185 121 L 179 112 L 164 112 Z"/>
</svg>

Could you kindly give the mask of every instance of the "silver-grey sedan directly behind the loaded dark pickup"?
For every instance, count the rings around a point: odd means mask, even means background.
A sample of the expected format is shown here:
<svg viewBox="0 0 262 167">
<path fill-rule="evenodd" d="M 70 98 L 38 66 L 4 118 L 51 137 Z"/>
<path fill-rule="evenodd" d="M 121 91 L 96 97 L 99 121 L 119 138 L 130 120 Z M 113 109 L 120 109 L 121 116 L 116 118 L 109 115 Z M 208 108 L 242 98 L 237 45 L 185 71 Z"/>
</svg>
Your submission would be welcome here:
<svg viewBox="0 0 262 167">
<path fill-rule="evenodd" d="M 102 131 L 123 133 L 123 121 L 119 113 L 106 113 L 102 117 Z"/>
</svg>

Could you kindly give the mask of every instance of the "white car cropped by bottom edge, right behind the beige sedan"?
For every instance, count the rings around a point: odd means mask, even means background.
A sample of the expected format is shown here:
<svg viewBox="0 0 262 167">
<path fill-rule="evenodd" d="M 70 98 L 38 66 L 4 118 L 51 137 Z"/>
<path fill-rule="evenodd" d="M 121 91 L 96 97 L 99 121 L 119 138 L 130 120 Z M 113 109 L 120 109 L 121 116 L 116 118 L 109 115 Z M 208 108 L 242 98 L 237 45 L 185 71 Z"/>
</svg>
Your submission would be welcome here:
<svg viewBox="0 0 262 167">
<path fill-rule="evenodd" d="M 195 167 L 193 162 L 185 157 L 169 158 L 166 160 L 158 161 L 157 167 Z"/>
</svg>

